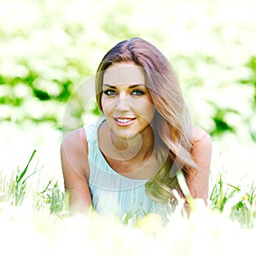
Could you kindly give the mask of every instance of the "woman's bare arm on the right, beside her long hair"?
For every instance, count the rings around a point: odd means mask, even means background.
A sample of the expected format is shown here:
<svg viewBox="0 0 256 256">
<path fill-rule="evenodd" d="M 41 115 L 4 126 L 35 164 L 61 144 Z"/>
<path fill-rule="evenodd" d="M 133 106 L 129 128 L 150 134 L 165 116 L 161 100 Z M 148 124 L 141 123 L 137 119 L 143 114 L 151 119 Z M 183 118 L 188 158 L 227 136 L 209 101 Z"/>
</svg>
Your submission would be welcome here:
<svg viewBox="0 0 256 256">
<path fill-rule="evenodd" d="M 200 128 L 193 129 L 194 147 L 191 155 L 198 166 L 198 171 L 191 177 L 188 186 L 194 198 L 201 198 L 207 203 L 209 173 L 212 156 L 212 140 L 206 131 Z"/>
</svg>

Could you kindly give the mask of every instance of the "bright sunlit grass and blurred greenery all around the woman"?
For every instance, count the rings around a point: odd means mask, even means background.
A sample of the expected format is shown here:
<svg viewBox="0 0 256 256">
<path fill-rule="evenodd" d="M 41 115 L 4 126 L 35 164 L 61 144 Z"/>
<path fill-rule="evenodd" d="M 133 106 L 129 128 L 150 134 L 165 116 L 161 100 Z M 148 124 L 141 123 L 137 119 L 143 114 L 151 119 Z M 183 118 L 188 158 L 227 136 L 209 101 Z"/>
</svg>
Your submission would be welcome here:
<svg viewBox="0 0 256 256">
<path fill-rule="evenodd" d="M 0 255 L 253 252 L 255 13 L 253 0 L 2 0 Z M 167 223 L 154 214 L 69 213 L 61 140 L 97 113 L 77 94 L 105 52 L 131 37 L 172 62 L 193 123 L 212 137 L 208 206 L 192 201 L 189 218 L 182 200 Z M 93 100 L 93 88 L 84 88 Z"/>
</svg>

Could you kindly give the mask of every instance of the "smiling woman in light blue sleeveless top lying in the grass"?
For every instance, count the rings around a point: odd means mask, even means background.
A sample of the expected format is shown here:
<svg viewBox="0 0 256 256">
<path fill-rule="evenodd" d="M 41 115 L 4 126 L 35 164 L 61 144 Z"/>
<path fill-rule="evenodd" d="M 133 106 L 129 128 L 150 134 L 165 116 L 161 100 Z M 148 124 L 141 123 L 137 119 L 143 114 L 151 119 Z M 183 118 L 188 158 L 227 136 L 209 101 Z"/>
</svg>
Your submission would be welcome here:
<svg viewBox="0 0 256 256">
<path fill-rule="evenodd" d="M 189 124 L 177 77 L 158 49 L 141 38 L 110 49 L 96 72 L 96 102 L 103 118 L 61 143 L 73 210 L 166 212 L 183 196 L 177 172 L 207 202 L 211 138 Z"/>
</svg>

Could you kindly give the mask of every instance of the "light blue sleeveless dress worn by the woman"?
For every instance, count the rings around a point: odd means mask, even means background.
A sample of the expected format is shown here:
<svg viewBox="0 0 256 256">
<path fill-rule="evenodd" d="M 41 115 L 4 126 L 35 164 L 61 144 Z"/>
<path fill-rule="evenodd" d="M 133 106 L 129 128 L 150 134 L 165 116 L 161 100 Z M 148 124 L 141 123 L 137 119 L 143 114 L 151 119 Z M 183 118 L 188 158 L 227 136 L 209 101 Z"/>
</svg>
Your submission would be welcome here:
<svg viewBox="0 0 256 256">
<path fill-rule="evenodd" d="M 164 214 L 166 205 L 152 200 L 145 193 L 145 183 L 148 180 L 124 177 L 108 165 L 98 145 L 98 128 L 103 120 L 84 125 L 89 150 L 89 186 L 94 209 L 119 218 L 127 215 L 144 216 L 148 212 Z"/>
</svg>

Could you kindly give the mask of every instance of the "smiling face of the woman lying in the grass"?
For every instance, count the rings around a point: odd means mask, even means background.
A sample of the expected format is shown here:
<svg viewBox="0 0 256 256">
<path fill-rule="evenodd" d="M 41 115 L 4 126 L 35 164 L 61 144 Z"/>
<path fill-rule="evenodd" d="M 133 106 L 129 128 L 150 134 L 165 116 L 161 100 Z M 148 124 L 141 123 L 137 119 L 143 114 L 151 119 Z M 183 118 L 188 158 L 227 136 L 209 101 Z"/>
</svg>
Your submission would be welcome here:
<svg viewBox="0 0 256 256">
<path fill-rule="evenodd" d="M 102 110 L 118 137 L 131 138 L 147 131 L 154 118 L 154 105 L 142 67 L 133 62 L 108 67 L 103 76 Z"/>
</svg>

